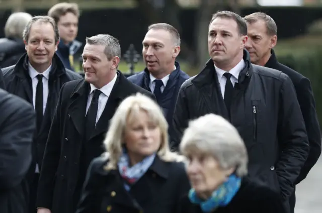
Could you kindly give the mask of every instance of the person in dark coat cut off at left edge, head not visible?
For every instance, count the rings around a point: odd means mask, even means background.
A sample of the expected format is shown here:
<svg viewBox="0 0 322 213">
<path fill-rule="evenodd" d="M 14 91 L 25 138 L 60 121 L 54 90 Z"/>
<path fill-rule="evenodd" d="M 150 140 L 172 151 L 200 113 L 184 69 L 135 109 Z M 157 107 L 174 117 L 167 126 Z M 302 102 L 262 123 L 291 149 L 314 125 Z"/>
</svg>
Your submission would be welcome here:
<svg viewBox="0 0 322 213">
<path fill-rule="evenodd" d="M 32 105 L 0 89 L 0 126 L 0 211 L 27 213 L 25 175 L 36 128 Z"/>
</svg>

